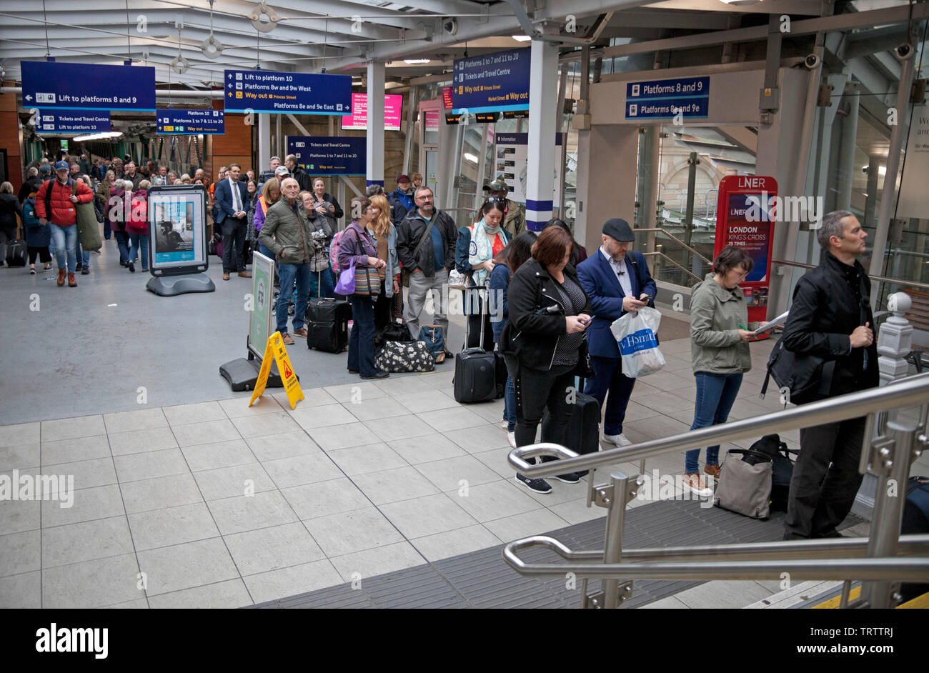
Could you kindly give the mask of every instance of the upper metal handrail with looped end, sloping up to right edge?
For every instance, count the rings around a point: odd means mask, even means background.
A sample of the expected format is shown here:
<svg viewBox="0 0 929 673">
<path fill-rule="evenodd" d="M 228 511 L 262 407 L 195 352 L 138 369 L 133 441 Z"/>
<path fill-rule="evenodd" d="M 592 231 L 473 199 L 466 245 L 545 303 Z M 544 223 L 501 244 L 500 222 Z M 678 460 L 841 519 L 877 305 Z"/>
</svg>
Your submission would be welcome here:
<svg viewBox="0 0 929 673">
<path fill-rule="evenodd" d="M 670 437 L 639 442 L 628 447 L 610 448 L 579 456 L 569 448 L 543 443 L 514 448 L 507 459 L 510 465 L 517 469 L 517 472 L 530 479 L 536 479 L 565 472 L 591 470 L 618 462 L 654 458 L 669 451 L 713 447 L 748 437 L 808 428 L 835 421 L 847 421 L 889 408 L 919 407 L 927 400 L 929 400 L 929 372 L 889 383 L 883 388 L 870 388 L 857 393 L 838 395 L 801 407 L 775 411 L 752 419 L 711 425 Z M 538 456 L 555 456 L 561 460 L 536 465 L 530 465 L 526 461 L 528 458 Z"/>
</svg>

